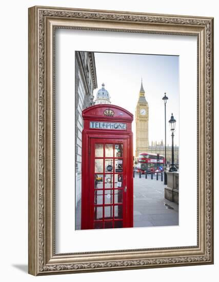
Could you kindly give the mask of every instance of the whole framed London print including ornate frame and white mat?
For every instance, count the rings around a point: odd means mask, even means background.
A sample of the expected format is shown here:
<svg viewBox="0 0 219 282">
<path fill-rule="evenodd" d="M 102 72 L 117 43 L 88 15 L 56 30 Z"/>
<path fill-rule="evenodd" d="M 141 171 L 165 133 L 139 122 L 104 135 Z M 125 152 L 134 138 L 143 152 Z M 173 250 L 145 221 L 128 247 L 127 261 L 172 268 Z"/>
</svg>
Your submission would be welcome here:
<svg viewBox="0 0 219 282">
<path fill-rule="evenodd" d="M 29 273 L 213 264 L 213 18 L 29 8 Z"/>
</svg>

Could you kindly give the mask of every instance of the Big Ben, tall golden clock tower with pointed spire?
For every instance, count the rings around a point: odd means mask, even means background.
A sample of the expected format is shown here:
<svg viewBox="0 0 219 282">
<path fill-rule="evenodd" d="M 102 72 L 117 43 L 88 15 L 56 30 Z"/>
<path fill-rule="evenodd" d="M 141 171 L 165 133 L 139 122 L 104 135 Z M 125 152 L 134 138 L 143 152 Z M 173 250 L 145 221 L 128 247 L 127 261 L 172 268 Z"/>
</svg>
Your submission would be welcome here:
<svg viewBox="0 0 219 282">
<path fill-rule="evenodd" d="M 139 92 L 138 102 L 135 109 L 135 123 L 136 123 L 136 149 L 135 157 L 140 153 L 148 151 L 148 117 L 149 117 L 148 102 L 145 98 L 145 90 L 143 84 Z"/>
</svg>

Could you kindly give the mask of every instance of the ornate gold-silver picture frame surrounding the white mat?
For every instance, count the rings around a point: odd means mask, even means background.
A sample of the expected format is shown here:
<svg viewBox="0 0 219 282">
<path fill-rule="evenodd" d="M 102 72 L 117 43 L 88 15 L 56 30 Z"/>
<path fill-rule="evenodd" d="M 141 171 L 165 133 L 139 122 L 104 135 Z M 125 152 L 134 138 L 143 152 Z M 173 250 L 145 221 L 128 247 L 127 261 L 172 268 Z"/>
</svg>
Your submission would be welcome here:
<svg viewBox="0 0 219 282">
<path fill-rule="evenodd" d="M 196 246 L 55 252 L 56 29 L 128 32 L 130 36 L 152 33 L 197 37 Z M 32 275 L 213 264 L 213 18 L 29 8 L 28 264 Z"/>
</svg>

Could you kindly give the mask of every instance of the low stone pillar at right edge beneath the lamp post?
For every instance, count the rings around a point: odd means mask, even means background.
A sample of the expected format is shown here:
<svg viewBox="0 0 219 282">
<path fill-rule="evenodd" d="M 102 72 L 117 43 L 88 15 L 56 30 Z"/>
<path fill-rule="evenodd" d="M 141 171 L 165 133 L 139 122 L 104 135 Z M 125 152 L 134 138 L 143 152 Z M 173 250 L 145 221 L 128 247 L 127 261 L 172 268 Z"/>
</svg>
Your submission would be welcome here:
<svg viewBox="0 0 219 282">
<path fill-rule="evenodd" d="M 167 187 L 164 188 L 166 199 L 178 204 L 178 171 L 167 172 Z"/>
</svg>

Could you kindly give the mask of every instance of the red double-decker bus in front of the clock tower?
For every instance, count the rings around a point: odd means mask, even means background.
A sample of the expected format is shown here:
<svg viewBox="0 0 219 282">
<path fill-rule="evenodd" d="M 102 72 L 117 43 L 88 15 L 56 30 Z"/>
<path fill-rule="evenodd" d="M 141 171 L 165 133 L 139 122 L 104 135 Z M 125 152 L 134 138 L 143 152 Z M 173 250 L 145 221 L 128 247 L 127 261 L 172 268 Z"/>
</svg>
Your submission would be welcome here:
<svg viewBox="0 0 219 282">
<path fill-rule="evenodd" d="M 140 153 L 137 158 L 137 172 L 154 173 L 164 171 L 165 158 L 152 153 Z"/>
</svg>

